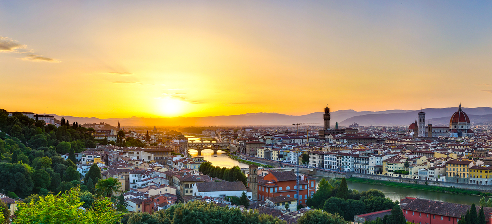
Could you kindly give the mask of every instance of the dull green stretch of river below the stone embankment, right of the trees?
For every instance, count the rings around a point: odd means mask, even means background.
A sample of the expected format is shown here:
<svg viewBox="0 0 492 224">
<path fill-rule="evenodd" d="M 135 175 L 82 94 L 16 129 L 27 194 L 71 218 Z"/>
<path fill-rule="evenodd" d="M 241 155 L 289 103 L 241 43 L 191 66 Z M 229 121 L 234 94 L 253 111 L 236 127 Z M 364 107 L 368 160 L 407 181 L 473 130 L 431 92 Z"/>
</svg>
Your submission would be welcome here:
<svg viewBox="0 0 492 224">
<path fill-rule="evenodd" d="M 322 177 L 318 177 L 318 183 L 321 179 Z M 457 194 L 431 192 L 431 191 L 424 191 L 424 190 L 410 189 L 410 188 L 398 188 L 398 187 L 376 185 L 376 184 L 354 183 L 350 181 L 347 181 L 347 185 L 349 189 L 356 189 L 359 192 L 367 191 L 369 189 L 377 189 L 382 191 L 386 195 L 386 197 L 390 198 L 391 200 L 399 201 L 399 202 L 400 199 L 403 199 L 405 197 L 417 197 L 417 198 L 444 201 L 450 203 L 458 203 L 458 204 L 471 205 L 475 203 L 475 205 L 477 205 L 479 203 L 480 198 L 482 198 L 482 196 L 457 195 Z"/>
</svg>

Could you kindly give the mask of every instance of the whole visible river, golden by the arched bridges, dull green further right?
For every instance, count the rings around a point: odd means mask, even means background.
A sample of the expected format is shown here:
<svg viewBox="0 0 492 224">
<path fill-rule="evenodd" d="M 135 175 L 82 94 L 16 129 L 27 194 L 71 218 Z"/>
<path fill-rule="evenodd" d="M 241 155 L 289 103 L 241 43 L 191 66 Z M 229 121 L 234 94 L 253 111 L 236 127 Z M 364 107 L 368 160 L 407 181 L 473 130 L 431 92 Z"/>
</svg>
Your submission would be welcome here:
<svg viewBox="0 0 492 224">
<path fill-rule="evenodd" d="M 222 151 L 219 151 L 217 155 L 213 155 L 212 150 L 205 150 L 202 151 L 202 157 L 204 157 L 205 160 L 209 161 L 212 163 L 214 166 L 219 166 L 219 167 L 226 167 L 226 168 L 231 168 L 234 166 L 239 166 L 240 168 L 247 168 L 248 165 L 244 163 L 240 163 L 236 160 L 233 160 L 227 156 L 226 153 L 221 153 Z M 190 154 L 192 156 L 197 156 L 196 151 L 190 151 Z M 216 156 L 216 157 L 214 157 Z M 318 183 L 319 180 L 321 180 L 322 177 L 318 178 Z M 382 186 L 382 185 L 373 185 L 373 184 L 365 184 L 365 183 L 353 183 L 353 182 L 347 182 L 348 188 L 350 189 L 356 189 L 357 191 L 366 191 L 369 189 L 377 189 L 386 195 L 386 197 L 390 198 L 393 201 L 400 201 L 400 199 L 403 199 L 405 197 L 417 197 L 417 198 L 424 198 L 424 199 L 430 199 L 430 200 L 437 200 L 437 201 L 445 201 L 445 202 L 450 202 L 450 203 L 459 203 L 459 204 L 478 204 L 481 196 L 465 196 L 465 195 L 456 195 L 456 194 L 448 194 L 448 193 L 441 193 L 441 192 L 431 192 L 431 191 L 423 191 L 423 190 L 417 190 L 417 189 L 409 189 L 409 188 L 398 188 L 398 187 L 391 187 L 391 186 Z"/>
</svg>

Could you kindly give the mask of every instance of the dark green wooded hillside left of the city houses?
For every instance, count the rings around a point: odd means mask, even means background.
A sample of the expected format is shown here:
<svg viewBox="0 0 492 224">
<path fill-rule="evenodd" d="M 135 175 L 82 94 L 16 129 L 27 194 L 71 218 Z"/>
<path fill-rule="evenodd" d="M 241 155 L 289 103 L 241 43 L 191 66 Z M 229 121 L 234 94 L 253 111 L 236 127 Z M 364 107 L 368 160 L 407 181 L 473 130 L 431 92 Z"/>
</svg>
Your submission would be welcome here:
<svg viewBox="0 0 492 224">
<path fill-rule="evenodd" d="M 90 129 L 68 123 L 57 128 L 20 113 L 9 117 L 3 109 L 0 130 L 0 191 L 12 198 L 58 193 L 76 186 L 80 173 L 72 160 L 64 160 L 60 154 L 74 157 L 75 152 L 96 146 Z"/>
</svg>

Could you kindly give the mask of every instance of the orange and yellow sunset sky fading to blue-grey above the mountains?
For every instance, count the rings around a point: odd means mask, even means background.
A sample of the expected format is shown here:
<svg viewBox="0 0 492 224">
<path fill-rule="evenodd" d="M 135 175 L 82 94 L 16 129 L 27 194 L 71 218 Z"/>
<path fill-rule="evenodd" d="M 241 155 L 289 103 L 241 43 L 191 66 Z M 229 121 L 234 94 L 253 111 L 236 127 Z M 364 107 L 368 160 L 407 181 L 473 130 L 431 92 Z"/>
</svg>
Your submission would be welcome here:
<svg viewBox="0 0 492 224">
<path fill-rule="evenodd" d="M 492 107 L 490 1 L 0 1 L 0 108 L 79 117 Z"/>
</svg>

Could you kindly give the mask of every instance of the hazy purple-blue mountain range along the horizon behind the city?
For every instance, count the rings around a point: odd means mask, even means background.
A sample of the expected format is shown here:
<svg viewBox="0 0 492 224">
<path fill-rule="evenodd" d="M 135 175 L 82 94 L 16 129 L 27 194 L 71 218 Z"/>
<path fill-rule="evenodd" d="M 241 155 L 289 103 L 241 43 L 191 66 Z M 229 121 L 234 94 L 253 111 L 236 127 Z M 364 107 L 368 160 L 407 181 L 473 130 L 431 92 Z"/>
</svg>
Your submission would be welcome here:
<svg viewBox="0 0 492 224">
<path fill-rule="evenodd" d="M 449 125 L 449 119 L 457 108 L 426 108 L 422 110 L 426 113 L 426 123 L 434 125 Z M 472 123 L 492 123 L 492 108 L 463 108 L 468 114 Z M 379 126 L 379 125 L 409 125 L 418 117 L 420 110 L 387 110 L 387 111 L 354 111 L 338 110 L 331 112 L 330 124 L 335 125 L 338 122 L 340 126 L 348 126 L 358 123 L 361 126 Z M 62 116 L 53 115 L 57 119 Z M 70 122 L 100 123 L 105 122 L 116 126 L 118 121 L 124 126 L 253 126 L 253 125 L 272 125 L 272 126 L 289 126 L 293 123 L 319 123 L 323 125 L 323 112 L 315 112 L 301 116 L 291 116 L 279 113 L 246 113 L 241 115 L 230 116 L 209 116 L 209 117 L 173 117 L 173 118 L 109 118 L 99 119 L 96 117 L 73 117 L 63 116 Z"/>
</svg>

